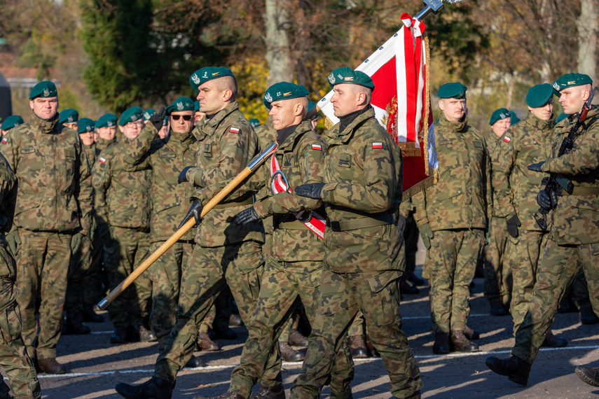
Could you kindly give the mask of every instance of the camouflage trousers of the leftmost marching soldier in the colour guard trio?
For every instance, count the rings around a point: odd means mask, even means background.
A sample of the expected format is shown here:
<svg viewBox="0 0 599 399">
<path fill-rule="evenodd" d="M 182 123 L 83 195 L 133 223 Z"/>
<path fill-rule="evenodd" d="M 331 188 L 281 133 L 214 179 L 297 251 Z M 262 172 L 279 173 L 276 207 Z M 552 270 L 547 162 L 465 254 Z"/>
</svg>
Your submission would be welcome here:
<svg viewBox="0 0 599 399">
<path fill-rule="evenodd" d="M 174 384 L 177 372 L 187 364 L 195 348 L 197 325 L 226 284 L 235 297 L 242 320 L 249 321 L 256 309 L 263 269 L 261 245 L 257 242 L 214 248 L 195 245 L 181 279 L 177 319 L 165 349 L 156 360 L 154 377 Z M 280 362 L 277 356 L 273 354 L 268 361 L 269 370 L 280 369 L 280 365 L 274 365 Z M 265 375 L 264 379 L 270 381 L 275 377 Z"/>
</svg>

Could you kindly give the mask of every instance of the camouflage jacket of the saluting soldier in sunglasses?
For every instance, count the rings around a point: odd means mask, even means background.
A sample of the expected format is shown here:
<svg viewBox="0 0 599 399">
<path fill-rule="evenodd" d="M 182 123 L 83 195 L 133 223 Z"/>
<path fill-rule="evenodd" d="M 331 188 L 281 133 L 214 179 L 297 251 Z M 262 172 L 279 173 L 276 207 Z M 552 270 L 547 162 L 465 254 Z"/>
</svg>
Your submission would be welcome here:
<svg viewBox="0 0 599 399">
<path fill-rule="evenodd" d="M 193 194 L 189 184 L 178 184 L 179 172 L 193 162 L 198 141 L 191 132 L 183 135 L 172 131 L 164 140 L 156 140 L 158 130 L 151 123 L 135 140 L 123 148 L 122 159 L 132 167 L 149 154 L 152 169 L 150 198 L 152 216 L 150 241 L 165 241 L 177 231 L 179 223 L 189 209 L 188 198 Z M 193 239 L 193 230 L 181 240 Z"/>
</svg>

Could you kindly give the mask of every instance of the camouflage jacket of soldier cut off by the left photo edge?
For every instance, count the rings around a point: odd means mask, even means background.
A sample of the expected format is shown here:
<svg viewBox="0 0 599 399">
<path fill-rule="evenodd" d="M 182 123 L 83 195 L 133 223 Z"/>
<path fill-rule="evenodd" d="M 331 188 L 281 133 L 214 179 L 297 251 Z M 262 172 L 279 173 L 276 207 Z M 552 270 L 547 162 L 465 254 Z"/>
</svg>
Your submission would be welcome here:
<svg viewBox="0 0 599 399">
<path fill-rule="evenodd" d="M 4 155 L 0 153 L 0 229 L 2 233 L 2 241 L 4 234 L 11 231 L 13 225 L 13 216 L 15 216 L 15 204 L 17 201 L 17 176 L 13 173 L 11 165 L 8 165 L 8 161 L 4 158 Z M 0 244 L 0 252 L 4 260 L 0 261 L 0 279 L 11 279 L 17 278 L 17 269 L 15 262 L 12 261 L 11 255 L 8 255 L 4 244 Z M 2 283 L 2 293 L 0 295 L 0 302 L 6 295 L 6 288 L 4 287 L 4 281 Z M 0 307 L 1 308 L 1 307 Z M 0 309 L 1 310 L 1 309 Z"/>
</svg>

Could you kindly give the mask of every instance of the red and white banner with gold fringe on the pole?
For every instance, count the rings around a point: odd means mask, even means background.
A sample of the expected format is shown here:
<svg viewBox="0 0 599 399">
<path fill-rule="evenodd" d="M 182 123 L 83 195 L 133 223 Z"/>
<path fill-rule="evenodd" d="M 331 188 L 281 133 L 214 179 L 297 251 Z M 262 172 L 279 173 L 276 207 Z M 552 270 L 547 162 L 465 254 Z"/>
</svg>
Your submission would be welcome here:
<svg viewBox="0 0 599 399">
<path fill-rule="evenodd" d="M 429 96 L 429 60 L 423 39 L 426 25 L 404 13 L 404 26 L 356 68 L 375 85 L 371 104 L 376 118 L 401 146 L 404 154 L 404 196 L 434 183 L 439 169 Z M 334 124 L 329 92 L 318 103 Z"/>
</svg>

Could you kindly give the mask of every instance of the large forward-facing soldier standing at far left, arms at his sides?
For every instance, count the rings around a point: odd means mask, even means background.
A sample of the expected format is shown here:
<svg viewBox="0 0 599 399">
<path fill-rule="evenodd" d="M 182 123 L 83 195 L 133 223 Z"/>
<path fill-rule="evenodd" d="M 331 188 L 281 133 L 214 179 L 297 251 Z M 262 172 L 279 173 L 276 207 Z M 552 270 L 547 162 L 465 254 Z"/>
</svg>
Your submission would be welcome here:
<svg viewBox="0 0 599 399">
<path fill-rule="evenodd" d="M 15 127 L 1 146 L 19 181 L 15 223 L 6 238 L 16 251 L 17 302 L 27 353 L 37 358 L 42 371 L 62 374 L 67 369 L 56 361 L 56 344 L 71 248 L 91 228 L 90 165 L 77 132 L 58 123 L 56 86 L 38 83 L 29 97 L 31 120 Z"/>
</svg>

